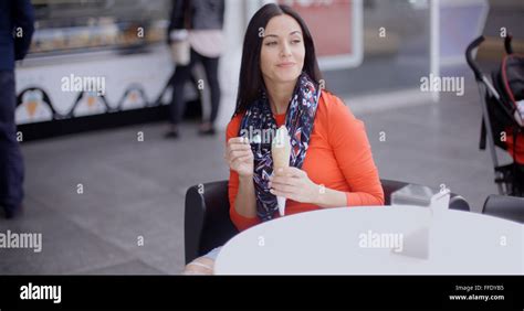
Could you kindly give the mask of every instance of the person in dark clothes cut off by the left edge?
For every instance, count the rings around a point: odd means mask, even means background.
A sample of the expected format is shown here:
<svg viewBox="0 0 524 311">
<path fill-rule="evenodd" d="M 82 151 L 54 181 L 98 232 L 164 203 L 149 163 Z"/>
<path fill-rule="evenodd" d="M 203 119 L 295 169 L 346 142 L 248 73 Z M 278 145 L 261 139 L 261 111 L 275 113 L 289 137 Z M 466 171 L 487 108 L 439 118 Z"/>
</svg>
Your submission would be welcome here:
<svg viewBox="0 0 524 311">
<path fill-rule="evenodd" d="M 25 57 L 33 23 L 30 0 L 0 1 L 0 205 L 7 218 L 22 212 L 24 168 L 14 120 L 14 61 Z"/>
</svg>

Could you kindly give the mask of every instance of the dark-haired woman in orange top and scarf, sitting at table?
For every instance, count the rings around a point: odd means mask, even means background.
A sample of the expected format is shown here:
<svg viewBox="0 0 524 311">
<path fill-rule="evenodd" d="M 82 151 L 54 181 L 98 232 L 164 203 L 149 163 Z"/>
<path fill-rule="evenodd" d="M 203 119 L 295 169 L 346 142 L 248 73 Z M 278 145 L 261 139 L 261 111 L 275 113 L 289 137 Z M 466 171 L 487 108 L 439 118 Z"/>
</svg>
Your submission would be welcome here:
<svg viewBox="0 0 524 311">
<path fill-rule="evenodd" d="M 237 109 L 227 129 L 230 215 L 239 230 L 279 217 L 275 196 L 287 199 L 286 215 L 384 204 L 364 124 L 319 83 L 304 21 L 285 6 L 260 9 L 245 33 Z M 282 125 L 292 137 L 290 168 L 273 172 L 263 133 Z M 212 274 L 219 251 L 193 260 L 185 274 Z"/>
</svg>

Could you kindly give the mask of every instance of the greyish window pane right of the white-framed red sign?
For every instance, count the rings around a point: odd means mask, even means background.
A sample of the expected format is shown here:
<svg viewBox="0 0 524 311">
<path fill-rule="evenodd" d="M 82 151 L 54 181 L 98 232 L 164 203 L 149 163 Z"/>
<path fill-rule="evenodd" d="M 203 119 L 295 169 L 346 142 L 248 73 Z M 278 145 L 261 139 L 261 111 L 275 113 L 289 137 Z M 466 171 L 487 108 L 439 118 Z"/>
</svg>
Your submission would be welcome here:
<svg viewBox="0 0 524 311">
<path fill-rule="evenodd" d="M 361 41 L 361 63 L 325 72 L 328 88 L 343 97 L 418 88 L 430 72 L 428 1 L 364 0 Z"/>
</svg>

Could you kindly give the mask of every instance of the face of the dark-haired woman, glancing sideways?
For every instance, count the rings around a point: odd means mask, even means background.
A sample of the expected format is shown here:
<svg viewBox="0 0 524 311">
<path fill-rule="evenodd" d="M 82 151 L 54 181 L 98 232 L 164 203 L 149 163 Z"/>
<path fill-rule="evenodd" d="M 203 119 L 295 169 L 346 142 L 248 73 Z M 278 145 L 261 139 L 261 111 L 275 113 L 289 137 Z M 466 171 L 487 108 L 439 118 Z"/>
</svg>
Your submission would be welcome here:
<svg viewBox="0 0 524 311">
<path fill-rule="evenodd" d="M 301 25 L 290 15 L 277 15 L 265 26 L 261 64 L 264 81 L 295 83 L 304 67 L 305 46 Z"/>
</svg>

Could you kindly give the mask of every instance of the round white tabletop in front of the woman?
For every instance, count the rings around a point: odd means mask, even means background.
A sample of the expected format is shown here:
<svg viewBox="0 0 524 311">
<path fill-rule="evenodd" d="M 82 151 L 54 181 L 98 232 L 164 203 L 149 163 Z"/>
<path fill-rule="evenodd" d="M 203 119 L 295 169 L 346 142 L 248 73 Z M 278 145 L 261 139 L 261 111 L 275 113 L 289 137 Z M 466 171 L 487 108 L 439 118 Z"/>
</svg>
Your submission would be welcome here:
<svg viewBox="0 0 524 311">
<path fill-rule="evenodd" d="M 523 249 L 515 222 L 418 206 L 342 207 L 242 232 L 222 247 L 214 272 L 523 275 Z"/>
</svg>

